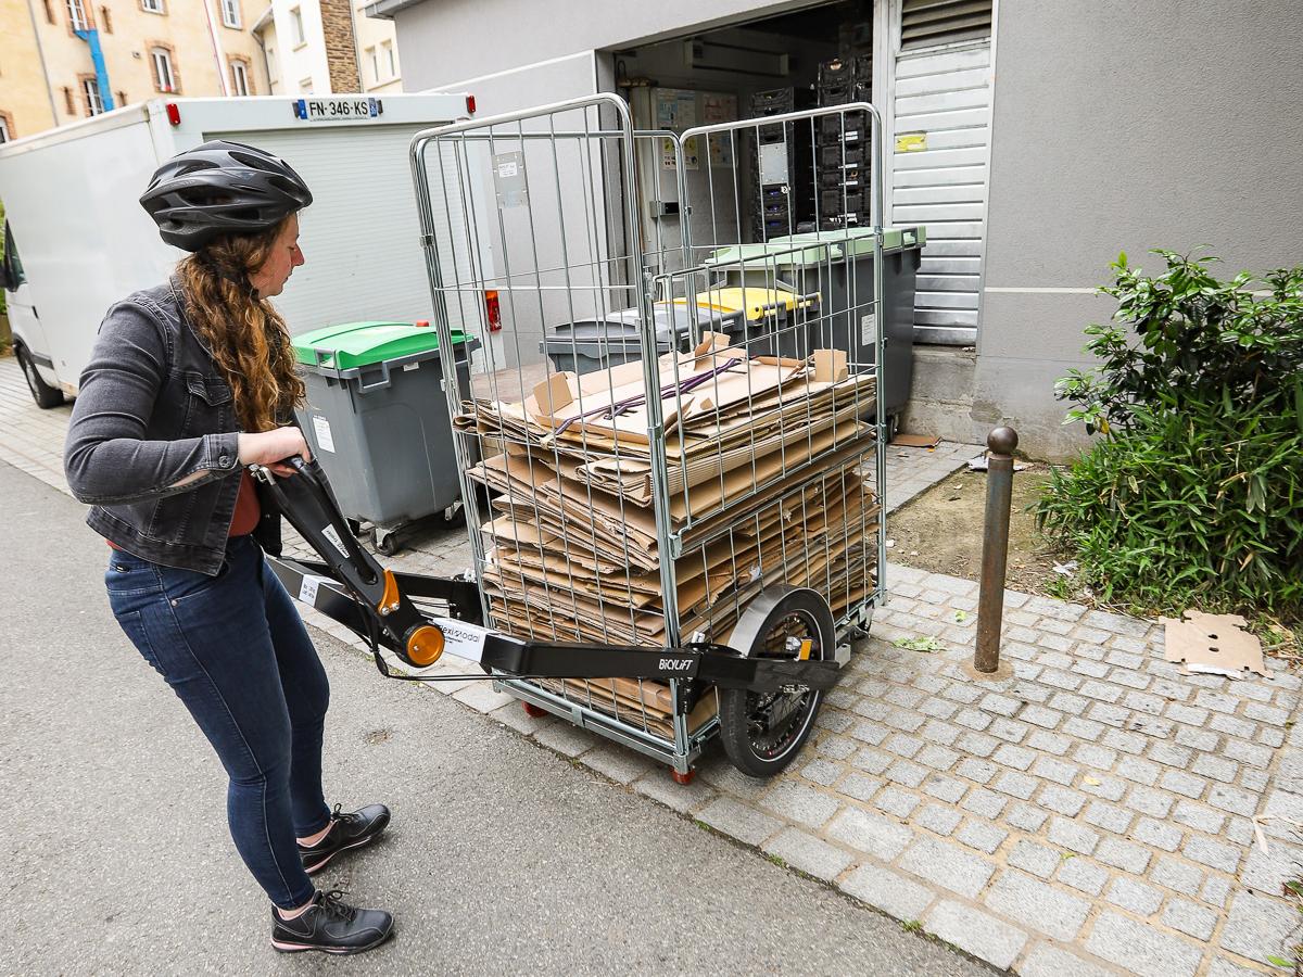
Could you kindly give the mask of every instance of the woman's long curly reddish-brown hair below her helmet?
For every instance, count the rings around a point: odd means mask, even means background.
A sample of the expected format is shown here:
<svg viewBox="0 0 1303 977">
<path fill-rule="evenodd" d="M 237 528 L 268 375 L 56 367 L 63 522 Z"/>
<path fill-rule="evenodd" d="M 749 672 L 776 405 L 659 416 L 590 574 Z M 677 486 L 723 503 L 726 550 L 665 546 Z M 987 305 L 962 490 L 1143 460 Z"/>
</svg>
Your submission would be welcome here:
<svg viewBox="0 0 1303 977">
<path fill-rule="evenodd" d="M 292 422 L 306 392 L 285 320 L 249 284 L 283 228 L 219 238 L 177 264 L 185 314 L 231 384 L 245 431 Z"/>
</svg>

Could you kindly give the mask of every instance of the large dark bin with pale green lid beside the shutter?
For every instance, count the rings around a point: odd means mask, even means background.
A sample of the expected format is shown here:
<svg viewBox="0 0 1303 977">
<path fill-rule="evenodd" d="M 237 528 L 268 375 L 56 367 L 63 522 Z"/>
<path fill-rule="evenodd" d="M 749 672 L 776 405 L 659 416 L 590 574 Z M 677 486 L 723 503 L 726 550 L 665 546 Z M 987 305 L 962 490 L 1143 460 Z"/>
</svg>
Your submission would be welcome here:
<svg viewBox="0 0 1303 977">
<path fill-rule="evenodd" d="M 909 400 L 915 281 L 926 240 L 923 227 L 889 228 L 882 237 L 882 399 L 889 417 L 899 414 Z M 844 349 L 852 363 L 873 363 L 877 323 L 870 228 L 788 234 L 765 244 L 724 248 L 705 264 L 722 272 L 728 284 L 773 287 L 777 280 L 801 294 L 817 293 L 818 304 L 807 317 L 807 350 Z"/>
</svg>

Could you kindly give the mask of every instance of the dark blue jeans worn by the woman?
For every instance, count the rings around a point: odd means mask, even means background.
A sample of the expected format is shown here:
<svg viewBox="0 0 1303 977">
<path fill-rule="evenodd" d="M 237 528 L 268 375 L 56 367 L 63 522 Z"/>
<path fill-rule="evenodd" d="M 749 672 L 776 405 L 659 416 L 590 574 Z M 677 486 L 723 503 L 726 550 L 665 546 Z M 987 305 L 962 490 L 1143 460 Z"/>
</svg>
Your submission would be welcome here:
<svg viewBox="0 0 1303 977">
<path fill-rule="evenodd" d="M 330 685 L 289 594 L 249 537 L 216 577 L 115 551 L 104 574 L 113 616 L 185 703 L 231 778 L 227 819 L 271 901 L 315 887 L 296 838 L 330 823 L 322 729 Z"/>
</svg>

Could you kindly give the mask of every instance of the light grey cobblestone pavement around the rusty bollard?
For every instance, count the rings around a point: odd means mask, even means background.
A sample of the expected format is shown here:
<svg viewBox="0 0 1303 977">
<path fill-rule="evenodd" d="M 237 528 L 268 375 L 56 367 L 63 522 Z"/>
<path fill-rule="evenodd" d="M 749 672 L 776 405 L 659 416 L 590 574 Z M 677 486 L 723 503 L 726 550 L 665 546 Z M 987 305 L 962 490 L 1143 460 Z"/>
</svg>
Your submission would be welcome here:
<svg viewBox="0 0 1303 977">
<path fill-rule="evenodd" d="M 0 459 L 60 490 L 66 413 L 36 410 L 0 361 Z M 890 502 L 977 451 L 891 448 Z M 429 531 L 390 563 L 464 569 L 465 529 Z M 999 968 L 1244 977 L 1289 956 L 1299 914 L 1280 892 L 1303 853 L 1299 677 L 1274 662 L 1269 680 L 1182 676 L 1157 625 L 1009 591 L 1014 676 L 975 683 L 959 664 L 976 584 L 904 567 L 887 580 L 873 637 L 803 758 L 771 782 L 711 753 L 680 787 L 483 684 L 434 688 Z M 939 650 L 894 644 L 920 636 Z"/>
</svg>

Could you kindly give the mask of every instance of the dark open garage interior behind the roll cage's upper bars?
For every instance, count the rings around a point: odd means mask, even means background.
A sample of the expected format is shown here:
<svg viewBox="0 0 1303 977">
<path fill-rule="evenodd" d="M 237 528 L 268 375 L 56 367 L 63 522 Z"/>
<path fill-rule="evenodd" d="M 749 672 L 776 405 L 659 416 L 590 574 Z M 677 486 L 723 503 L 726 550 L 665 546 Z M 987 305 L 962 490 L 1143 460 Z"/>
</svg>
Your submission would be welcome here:
<svg viewBox="0 0 1303 977">
<path fill-rule="evenodd" d="M 851 0 L 605 53 L 635 128 L 683 132 L 869 100 L 872 21 L 872 0 Z M 861 129 L 850 116 L 844 122 L 835 116 L 826 132 L 804 121 L 715 135 L 709 146 L 685 145 L 684 186 L 689 212 L 698 215 L 693 244 L 757 242 L 868 224 Z M 675 169 L 668 151 L 641 147 L 642 195 L 658 201 L 645 216 L 662 236 L 678 233 L 683 202 Z"/>
</svg>

